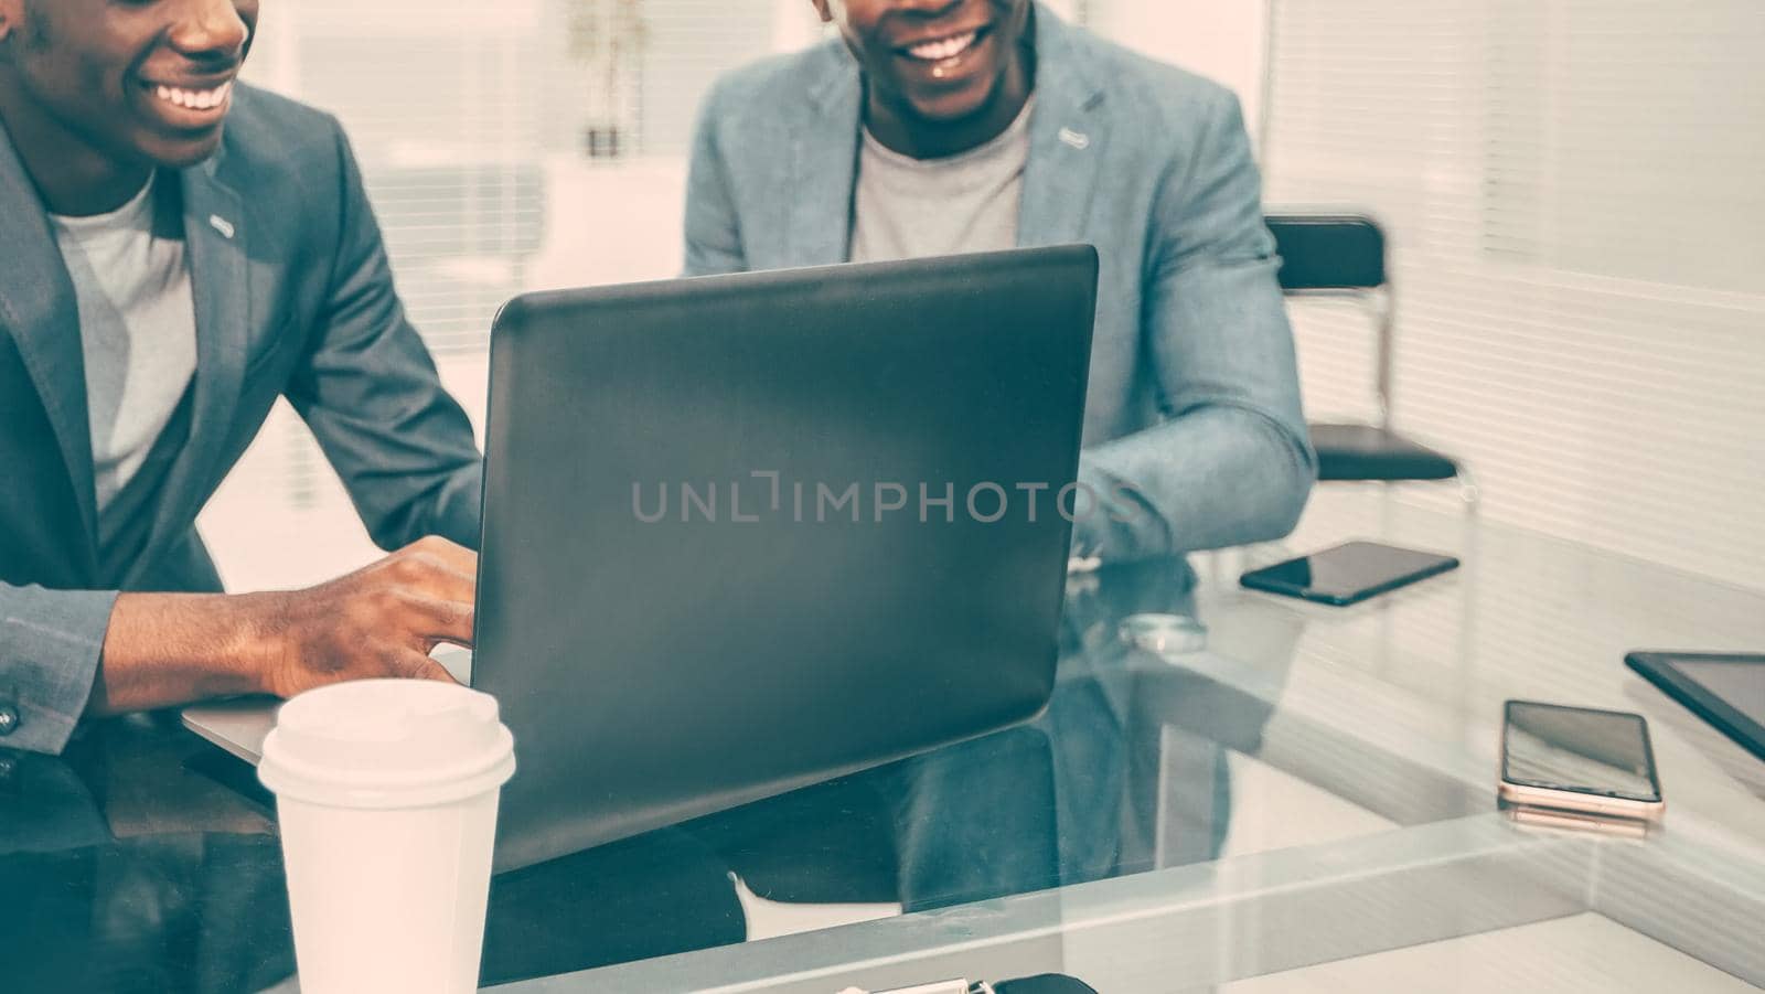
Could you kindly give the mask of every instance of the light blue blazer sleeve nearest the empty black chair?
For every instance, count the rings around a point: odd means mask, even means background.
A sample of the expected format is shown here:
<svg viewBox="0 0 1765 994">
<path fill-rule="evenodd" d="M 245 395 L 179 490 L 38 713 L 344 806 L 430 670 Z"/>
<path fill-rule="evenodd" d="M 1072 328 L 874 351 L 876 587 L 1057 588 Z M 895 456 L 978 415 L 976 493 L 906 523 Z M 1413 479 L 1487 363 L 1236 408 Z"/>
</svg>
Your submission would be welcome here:
<svg viewBox="0 0 1765 994">
<path fill-rule="evenodd" d="M 1135 560 L 1288 533 L 1317 459 L 1262 221 L 1262 180 L 1237 97 L 1218 92 L 1151 217 L 1144 335 L 1165 420 L 1089 448 L 1080 482 L 1108 514 L 1075 526 L 1075 551 Z"/>
</svg>

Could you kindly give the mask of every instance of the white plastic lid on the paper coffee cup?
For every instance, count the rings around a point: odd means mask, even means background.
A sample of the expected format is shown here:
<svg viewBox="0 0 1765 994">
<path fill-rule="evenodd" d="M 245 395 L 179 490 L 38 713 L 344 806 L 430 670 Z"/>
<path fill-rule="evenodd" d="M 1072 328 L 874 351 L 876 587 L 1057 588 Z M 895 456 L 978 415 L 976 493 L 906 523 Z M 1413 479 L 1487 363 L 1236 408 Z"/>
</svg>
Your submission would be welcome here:
<svg viewBox="0 0 1765 994">
<path fill-rule="evenodd" d="M 496 697 L 439 680 L 353 680 L 298 694 L 263 740 L 258 779 L 327 807 L 452 803 L 515 772 Z"/>
</svg>

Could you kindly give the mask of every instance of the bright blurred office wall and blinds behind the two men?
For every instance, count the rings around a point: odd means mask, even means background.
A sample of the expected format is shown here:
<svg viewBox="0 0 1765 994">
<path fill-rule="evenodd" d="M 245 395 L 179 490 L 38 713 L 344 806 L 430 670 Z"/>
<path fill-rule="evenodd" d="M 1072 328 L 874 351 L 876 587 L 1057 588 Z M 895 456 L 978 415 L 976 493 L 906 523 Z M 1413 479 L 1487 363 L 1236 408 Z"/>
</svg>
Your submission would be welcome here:
<svg viewBox="0 0 1765 994">
<path fill-rule="evenodd" d="M 1271 208 L 1380 219 L 1398 425 L 1476 470 L 1481 514 L 1765 590 L 1765 5 L 1048 5 L 1237 90 Z M 817 37 L 808 0 L 289 0 L 247 76 L 342 118 L 482 425 L 496 307 L 672 275 L 704 88 Z M 1294 318 L 1308 415 L 1370 418 L 1364 314 Z M 203 530 L 235 590 L 376 554 L 286 406 Z"/>
</svg>

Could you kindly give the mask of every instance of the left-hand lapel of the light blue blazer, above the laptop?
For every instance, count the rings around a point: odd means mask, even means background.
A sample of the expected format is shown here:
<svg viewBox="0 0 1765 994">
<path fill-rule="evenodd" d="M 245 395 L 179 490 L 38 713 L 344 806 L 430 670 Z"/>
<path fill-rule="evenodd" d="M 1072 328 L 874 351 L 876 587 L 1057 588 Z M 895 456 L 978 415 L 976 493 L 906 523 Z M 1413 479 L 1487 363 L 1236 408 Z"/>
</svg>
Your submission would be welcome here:
<svg viewBox="0 0 1765 994">
<path fill-rule="evenodd" d="M 805 111 L 791 127 L 789 222 L 784 258 L 791 265 L 844 263 L 851 247 L 852 185 L 858 180 L 858 62 L 845 46 L 826 46 Z"/>
</svg>

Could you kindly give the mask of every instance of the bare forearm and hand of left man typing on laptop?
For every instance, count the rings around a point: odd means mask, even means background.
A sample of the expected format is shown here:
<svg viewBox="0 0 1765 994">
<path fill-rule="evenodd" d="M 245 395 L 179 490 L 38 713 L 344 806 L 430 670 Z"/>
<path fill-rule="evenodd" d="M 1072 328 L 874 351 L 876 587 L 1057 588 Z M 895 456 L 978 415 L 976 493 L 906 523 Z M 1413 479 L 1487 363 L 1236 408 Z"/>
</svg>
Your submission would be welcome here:
<svg viewBox="0 0 1765 994">
<path fill-rule="evenodd" d="M 88 710 L 224 694 L 289 697 L 372 676 L 452 680 L 429 651 L 441 643 L 471 646 L 477 560 L 431 537 L 307 590 L 124 593 Z"/>
</svg>

